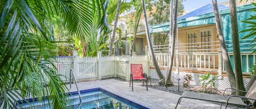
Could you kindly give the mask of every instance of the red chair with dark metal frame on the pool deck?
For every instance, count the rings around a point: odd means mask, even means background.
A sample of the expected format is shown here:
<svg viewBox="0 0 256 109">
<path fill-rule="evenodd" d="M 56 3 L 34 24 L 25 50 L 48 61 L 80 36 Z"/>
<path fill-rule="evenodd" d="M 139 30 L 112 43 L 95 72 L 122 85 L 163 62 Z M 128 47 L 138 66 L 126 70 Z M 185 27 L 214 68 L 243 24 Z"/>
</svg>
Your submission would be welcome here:
<svg viewBox="0 0 256 109">
<path fill-rule="evenodd" d="M 142 72 L 142 64 L 130 64 L 130 82 L 132 81 L 133 91 L 133 80 L 143 80 L 142 86 L 144 86 L 144 80 L 146 80 L 147 86 L 147 74 Z"/>
</svg>

